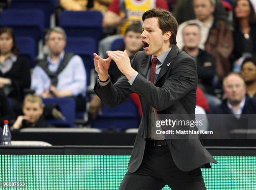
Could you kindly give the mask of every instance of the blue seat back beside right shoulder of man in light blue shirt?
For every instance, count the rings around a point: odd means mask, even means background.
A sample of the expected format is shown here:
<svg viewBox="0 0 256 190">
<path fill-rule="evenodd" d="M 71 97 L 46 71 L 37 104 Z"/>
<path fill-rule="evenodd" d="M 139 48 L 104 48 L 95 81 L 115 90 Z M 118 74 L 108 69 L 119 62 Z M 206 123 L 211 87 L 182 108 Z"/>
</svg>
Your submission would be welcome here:
<svg viewBox="0 0 256 190">
<path fill-rule="evenodd" d="M 93 53 L 97 52 L 95 39 L 89 37 L 69 37 L 65 51 L 81 56 L 87 73 L 87 86 L 90 85 L 90 70 L 94 68 Z"/>
</svg>

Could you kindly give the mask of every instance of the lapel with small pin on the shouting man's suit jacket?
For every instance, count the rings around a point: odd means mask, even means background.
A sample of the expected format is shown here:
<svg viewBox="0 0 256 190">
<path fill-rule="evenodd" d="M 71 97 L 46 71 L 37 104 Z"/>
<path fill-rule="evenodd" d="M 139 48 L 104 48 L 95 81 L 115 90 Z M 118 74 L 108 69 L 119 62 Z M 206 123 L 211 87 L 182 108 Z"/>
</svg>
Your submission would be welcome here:
<svg viewBox="0 0 256 190">
<path fill-rule="evenodd" d="M 178 46 L 174 45 L 171 51 L 169 52 L 169 54 L 167 55 L 166 59 L 164 60 L 160 73 L 156 79 L 156 83 L 157 81 L 159 81 L 159 79 L 161 79 L 162 76 L 164 76 L 166 71 L 169 69 L 170 65 L 173 63 L 174 58 L 177 56 L 178 52 L 179 52 Z"/>
</svg>

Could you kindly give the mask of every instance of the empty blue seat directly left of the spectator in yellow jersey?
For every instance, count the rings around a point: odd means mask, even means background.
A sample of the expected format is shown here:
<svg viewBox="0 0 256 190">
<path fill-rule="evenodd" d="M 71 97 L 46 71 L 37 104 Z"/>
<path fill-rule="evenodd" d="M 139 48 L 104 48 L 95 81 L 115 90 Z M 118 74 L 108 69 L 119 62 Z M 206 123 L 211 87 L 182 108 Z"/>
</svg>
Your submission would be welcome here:
<svg viewBox="0 0 256 190">
<path fill-rule="evenodd" d="M 98 43 L 102 38 L 102 13 L 99 11 L 62 11 L 59 24 L 69 37 L 92 37 Z"/>
</svg>

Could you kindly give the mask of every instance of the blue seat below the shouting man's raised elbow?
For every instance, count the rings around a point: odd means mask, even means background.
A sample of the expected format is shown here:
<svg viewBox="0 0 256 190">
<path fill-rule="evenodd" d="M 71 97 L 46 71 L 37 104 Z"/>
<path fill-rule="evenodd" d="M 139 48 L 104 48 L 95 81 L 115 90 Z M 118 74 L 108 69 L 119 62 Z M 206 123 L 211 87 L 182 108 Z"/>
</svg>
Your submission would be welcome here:
<svg viewBox="0 0 256 190">
<path fill-rule="evenodd" d="M 102 105 L 102 115 L 97 115 L 95 120 L 91 120 L 91 125 L 102 130 L 115 129 L 120 132 L 129 128 L 137 128 L 139 122 L 137 107 L 128 97 L 127 101 L 114 108 Z"/>
</svg>

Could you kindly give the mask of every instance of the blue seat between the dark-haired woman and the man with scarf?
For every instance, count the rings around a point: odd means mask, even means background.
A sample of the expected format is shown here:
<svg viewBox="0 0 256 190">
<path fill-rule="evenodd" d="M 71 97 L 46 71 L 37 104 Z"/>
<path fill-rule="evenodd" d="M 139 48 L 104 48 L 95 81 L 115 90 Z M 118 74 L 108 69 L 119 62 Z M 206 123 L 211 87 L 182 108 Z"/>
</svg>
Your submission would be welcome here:
<svg viewBox="0 0 256 190">
<path fill-rule="evenodd" d="M 34 67 L 34 58 L 36 58 L 38 53 L 38 45 L 36 41 L 31 37 L 16 37 L 15 40 L 20 50 L 20 54 L 28 57 L 31 67 Z"/>
</svg>

